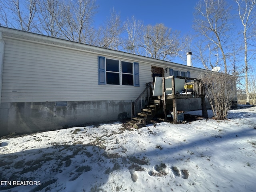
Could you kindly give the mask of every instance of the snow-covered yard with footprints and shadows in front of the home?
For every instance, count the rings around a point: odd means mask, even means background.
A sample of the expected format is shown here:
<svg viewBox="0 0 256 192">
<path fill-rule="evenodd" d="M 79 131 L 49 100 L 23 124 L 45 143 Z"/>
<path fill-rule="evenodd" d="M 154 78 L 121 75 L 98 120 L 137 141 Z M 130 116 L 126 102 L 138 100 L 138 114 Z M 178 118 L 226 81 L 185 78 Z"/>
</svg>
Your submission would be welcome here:
<svg viewBox="0 0 256 192">
<path fill-rule="evenodd" d="M 0 191 L 255 191 L 256 107 L 228 117 L 139 130 L 116 122 L 1 139 Z"/>
</svg>

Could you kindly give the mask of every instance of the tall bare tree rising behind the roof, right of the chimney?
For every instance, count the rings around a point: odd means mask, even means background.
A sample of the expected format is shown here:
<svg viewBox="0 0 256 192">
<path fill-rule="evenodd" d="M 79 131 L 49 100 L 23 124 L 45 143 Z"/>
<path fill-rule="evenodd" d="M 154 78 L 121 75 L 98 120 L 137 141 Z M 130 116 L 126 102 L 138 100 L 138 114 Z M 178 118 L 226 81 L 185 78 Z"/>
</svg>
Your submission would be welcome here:
<svg viewBox="0 0 256 192">
<path fill-rule="evenodd" d="M 194 28 L 220 50 L 225 73 L 228 72 L 225 46 L 230 30 L 231 8 L 225 0 L 200 0 L 196 6 Z M 209 43 L 209 44 L 211 44 Z"/>
</svg>

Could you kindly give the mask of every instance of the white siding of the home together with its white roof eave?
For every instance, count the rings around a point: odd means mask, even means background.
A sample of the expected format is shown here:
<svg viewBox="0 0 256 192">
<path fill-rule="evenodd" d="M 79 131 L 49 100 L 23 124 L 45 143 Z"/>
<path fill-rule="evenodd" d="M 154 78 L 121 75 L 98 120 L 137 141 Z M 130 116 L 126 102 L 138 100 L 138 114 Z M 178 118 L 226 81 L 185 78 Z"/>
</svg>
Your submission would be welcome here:
<svg viewBox="0 0 256 192">
<path fill-rule="evenodd" d="M 191 78 L 200 78 L 205 72 L 18 30 L 1 30 L 6 31 L 1 102 L 132 101 L 152 81 L 151 66 L 190 71 Z M 139 86 L 98 85 L 98 56 L 138 63 Z M 165 76 L 169 76 L 167 71 Z"/>
</svg>

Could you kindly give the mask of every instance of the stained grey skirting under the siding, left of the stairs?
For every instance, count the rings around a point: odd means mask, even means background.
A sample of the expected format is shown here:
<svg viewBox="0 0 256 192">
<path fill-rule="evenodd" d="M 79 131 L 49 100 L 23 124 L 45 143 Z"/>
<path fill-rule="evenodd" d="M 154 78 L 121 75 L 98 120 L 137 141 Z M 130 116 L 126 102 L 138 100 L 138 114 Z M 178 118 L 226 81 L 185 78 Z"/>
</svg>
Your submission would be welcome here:
<svg viewBox="0 0 256 192">
<path fill-rule="evenodd" d="M 131 116 L 131 100 L 1 103 L 0 136 L 57 130 Z"/>
</svg>

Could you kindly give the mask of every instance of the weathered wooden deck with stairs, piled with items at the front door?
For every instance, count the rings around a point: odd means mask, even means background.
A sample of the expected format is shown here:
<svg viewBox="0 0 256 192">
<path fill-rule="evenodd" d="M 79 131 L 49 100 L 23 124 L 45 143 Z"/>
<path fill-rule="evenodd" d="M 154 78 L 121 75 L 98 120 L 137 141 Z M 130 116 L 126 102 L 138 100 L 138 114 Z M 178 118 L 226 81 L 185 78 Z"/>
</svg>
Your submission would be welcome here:
<svg viewBox="0 0 256 192">
<path fill-rule="evenodd" d="M 156 82 L 154 85 L 154 88 L 157 88 L 157 97 L 152 93 L 152 85 L 153 83 L 149 82 L 140 96 L 132 102 L 132 120 L 130 123 L 134 124 L 137 128 L 146 126 L 156 112 L 162 108 L 164 110 L 164 118 L 167 120 L 166 105 L 168 99 L 172 99 L 174 124 L 178 123 L 177 99 L 201 98 L 202 115 L 208 118 L 205 104 L 205 89 L 200 79 L 181 76 L 158 78 L 157 85 Z M 188 87 L 190 88 L 189 90 L 184 89 Z M 183 91 L 182 94 L 180 94 L 181 90 Z M 137 102 L 140 105 L 141 112 L 137 110 Z"/>
</svg>

